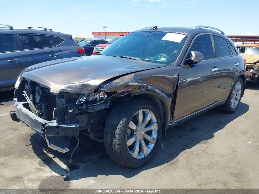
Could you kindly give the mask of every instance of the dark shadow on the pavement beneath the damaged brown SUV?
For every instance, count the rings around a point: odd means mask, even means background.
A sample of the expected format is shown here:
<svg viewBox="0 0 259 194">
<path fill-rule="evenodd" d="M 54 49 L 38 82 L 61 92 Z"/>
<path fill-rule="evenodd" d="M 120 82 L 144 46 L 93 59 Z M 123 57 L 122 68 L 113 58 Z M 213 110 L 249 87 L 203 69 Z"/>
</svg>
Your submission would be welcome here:
<svg viewBox="0 0 259 194">
<path fill-rule="evenodd" d="M 224 130 L 231 121 L 242 116 L 249 110 L 249 105 L 240 103 L 237 111 L 233 114 L 221 112 L 220 108 L 214 108 L 204 114 L 182 123 L 166 134 L 163 148 L 159 146 L 151 161 L 139 168 L 130 169 L 113 162 L 106 153 L 103 143 L 92 141 L 84 135 L 80 135 L 80 144 L 74 152 L 72 163 L 69 164 L 71 151 L 76 145 L 75 138 L 70 139 L 70 152 L 59 153 L 47 146 L 47 143 L 38 134 L 31 136 L 31 144 L 34 153 L 41 159 L 39 165 L 48 166 L 52 171 L 63 177 L 64 181 L 79 180 L 85 177 L 97 177 L 99 175 L 121 175 L 134 177 L 138 173 L 161 166 L 170 162 L 174 165 L 177 156 L 197 144 L 214 137 L 215 132 Z M 201 151 L 202 152 L 202 151 Z M 51 158 L 50 154 L 54 156 Z M 64 167 L 64 166 L 67 166 Z"/>
</svg>

